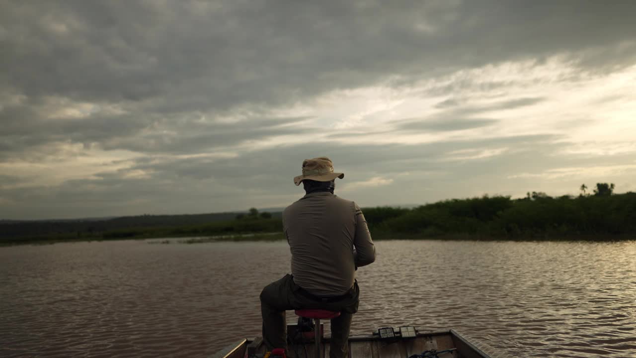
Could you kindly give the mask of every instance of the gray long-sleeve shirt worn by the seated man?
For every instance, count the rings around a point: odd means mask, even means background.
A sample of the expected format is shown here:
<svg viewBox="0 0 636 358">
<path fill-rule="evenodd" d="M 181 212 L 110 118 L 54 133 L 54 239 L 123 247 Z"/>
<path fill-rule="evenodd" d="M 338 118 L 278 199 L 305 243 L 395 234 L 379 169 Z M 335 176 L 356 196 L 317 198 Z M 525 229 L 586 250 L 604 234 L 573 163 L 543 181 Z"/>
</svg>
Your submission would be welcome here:
<svg viewBox="0 0 636 358">
<path fill-rule="evenodd" d="M 330 192 L 307 194 L 287 206 L 282 222 L 294 282 L 316 296 L 345 294 L 354 284 L 356 266 L 375 261 L 366 220 L 353 201 Z"/>
</svg>

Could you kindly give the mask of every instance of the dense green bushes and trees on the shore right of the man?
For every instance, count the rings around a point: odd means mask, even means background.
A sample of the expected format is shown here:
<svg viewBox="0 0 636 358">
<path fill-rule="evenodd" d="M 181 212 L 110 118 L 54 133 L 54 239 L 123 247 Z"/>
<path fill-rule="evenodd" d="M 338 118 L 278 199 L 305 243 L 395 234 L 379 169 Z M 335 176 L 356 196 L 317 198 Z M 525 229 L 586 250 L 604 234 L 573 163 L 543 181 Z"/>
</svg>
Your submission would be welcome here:
<svg viewBox="0 0 636 358">
<path fill-rule="evenodd" d="M 364 215 L 372 234 L 395 238 L 636 238 L 636 193 L 614 195 L 613 190 L 614 184 L 598 183 L 594 195 L 483 196 L 411 210 L 367 208 Z"/>
</svg>

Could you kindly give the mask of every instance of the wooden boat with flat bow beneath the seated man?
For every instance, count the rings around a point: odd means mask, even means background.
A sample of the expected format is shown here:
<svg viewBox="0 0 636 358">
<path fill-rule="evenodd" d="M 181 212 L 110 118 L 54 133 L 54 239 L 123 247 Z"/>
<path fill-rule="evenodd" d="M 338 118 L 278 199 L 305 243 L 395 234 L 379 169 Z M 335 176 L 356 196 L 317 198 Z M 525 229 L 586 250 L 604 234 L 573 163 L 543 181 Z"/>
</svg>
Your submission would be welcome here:
<svg viewBox="0 0 636 358">
<path fill-rule="evenodd" d="M 294 332 L 295 327 L 288 326 L 288 334 L 290 330 Z M 387 334 L 388 329 L 392 329 L 394 333 L 392 336 L 391 333 Z M 329 338 L 322 339 L 321 352 L 320 358 L 329 357 Z M 427 353 L 423 354 L 425 352 Z M 243 339 L 228 345 L 211 358 L 258 358 L 263 357 L 264 354 L 265 346 L 262 338 L 256 337 L 253 340 Z M 419 358 L 508 357 L 501 352 L 495 352 L 487 345 L 467 340 L 466 336 L 462 336 L 453 329 L 422 333 L 415 327 L 399 329 L 385 327 L 369 336 L 349 337 L 350 358 L 408 358 L 416 354 Z M 287 358 L 315 358 L 314 355 L 314 341 L 305 341 L 304 345 L 303 343 L 291 344 L 287 347 Z"/>
</svg>

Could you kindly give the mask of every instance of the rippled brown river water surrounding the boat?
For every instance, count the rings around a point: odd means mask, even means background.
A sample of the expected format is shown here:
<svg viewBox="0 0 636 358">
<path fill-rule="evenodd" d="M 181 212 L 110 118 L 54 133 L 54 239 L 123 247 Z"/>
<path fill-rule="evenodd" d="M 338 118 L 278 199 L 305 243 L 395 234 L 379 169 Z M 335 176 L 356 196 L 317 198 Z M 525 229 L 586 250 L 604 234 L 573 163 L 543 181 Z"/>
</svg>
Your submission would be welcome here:
<svg viewBox="0 0 636 358">
<path fill-rule="evenodd" d="M 636 241 L 376 245 L 352 334 L 410 324 L 513 357 L 636 357 Z M 206 357 L 259 335 L 259 293 L 289 258 L 284 241 L 2 247 L 0 357 Z"/>
</svg>

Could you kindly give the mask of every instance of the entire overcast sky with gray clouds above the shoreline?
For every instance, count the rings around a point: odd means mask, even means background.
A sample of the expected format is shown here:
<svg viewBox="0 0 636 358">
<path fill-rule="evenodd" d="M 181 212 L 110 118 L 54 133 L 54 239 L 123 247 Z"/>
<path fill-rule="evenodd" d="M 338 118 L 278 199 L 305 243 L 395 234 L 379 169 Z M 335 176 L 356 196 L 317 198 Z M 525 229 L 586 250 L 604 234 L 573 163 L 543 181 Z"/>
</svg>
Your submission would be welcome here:
<svg viewBox="0 0 636 358">
<path fill-rule="evenodd" d="M 0 0 L 0 219 L 636 190 L 636 1 Z"/>
</svg>

